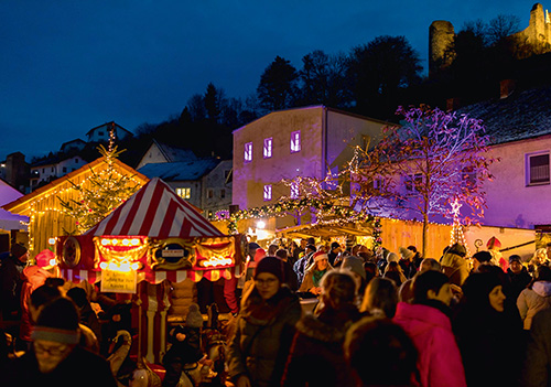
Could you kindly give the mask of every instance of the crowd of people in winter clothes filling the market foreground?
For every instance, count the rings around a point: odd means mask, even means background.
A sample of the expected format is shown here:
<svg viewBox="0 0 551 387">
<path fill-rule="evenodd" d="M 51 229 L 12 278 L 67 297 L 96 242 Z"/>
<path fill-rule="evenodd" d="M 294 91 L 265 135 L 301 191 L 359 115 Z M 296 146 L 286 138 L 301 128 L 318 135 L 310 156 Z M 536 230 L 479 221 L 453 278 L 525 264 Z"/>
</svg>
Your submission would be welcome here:
<svg viewBox="0 0 551 387">
<path fill-rule="evenodd" d="M 547 249 L 522 259 L 504 257 L 499 246 L 493 238 L 469 256 L 466 246 L 454 244 L 441 257 L 423 257 L 415 246 L 393 252 L 313 238 L 267 249 L 251 243 L 235 287 L 224 289 L 235 292 L 238 307 L 222 340 L 224 375 L 217 381 L 550 385 Z M 130 345 L 131 305 L 94 287 L 67 287 L 53 275 L 48 257 L 37 257 L 35 266 L 25 265 L 28 258 L 14 245 L 0 266 L 2 386 L 129 386 L 128 351 L 117 357 L 114 344 Z M 90 301 L 109 312 L 98 315 Z M 186 324 L 169 332 L 159 386 L 182 385 L 186 365 L 207 357 L 199 344 L 203 318 L 192 307 Z M 106 320 L 99 324 L 98 318 Z M 17 334 L 12 321 L 20 322 Z"/>
</svg>

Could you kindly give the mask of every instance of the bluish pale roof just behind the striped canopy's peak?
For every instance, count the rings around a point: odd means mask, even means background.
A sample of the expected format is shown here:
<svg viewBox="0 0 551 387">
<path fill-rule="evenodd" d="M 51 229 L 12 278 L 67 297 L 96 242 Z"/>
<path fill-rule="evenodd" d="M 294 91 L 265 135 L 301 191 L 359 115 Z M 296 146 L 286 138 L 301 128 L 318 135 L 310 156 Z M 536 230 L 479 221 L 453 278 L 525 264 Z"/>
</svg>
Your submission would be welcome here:
<svg viewBox="0 0 551 387">
<path fill-rule="evenodd" d="M 138 170 L 149 179 L 161 178 L 166 182 L 197 180 L 210 172 L 220 159 L 205 158 L 190 161 L 145 164 Z"/>
</svg>

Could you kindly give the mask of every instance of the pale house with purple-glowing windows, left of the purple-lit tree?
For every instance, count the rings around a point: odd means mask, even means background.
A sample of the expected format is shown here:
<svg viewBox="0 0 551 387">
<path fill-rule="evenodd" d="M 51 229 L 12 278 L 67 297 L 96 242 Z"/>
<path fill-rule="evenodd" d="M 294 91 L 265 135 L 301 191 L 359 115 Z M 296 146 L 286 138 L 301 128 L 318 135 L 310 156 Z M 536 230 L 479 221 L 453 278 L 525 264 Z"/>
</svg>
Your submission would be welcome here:
<svg viewBox="0 0 551 387">
<path fill-rule="evenodd" d="M 326 106 L 270 112 L 236 129 L 234 135 L 233 203 L 239 209 L 273 204 L 291 196 L 283 179 L 324 179 L 353 154 L 380 138 L 387 122 Z M 293 226 L 277 218 L 276 228 Z"/>
</svg>

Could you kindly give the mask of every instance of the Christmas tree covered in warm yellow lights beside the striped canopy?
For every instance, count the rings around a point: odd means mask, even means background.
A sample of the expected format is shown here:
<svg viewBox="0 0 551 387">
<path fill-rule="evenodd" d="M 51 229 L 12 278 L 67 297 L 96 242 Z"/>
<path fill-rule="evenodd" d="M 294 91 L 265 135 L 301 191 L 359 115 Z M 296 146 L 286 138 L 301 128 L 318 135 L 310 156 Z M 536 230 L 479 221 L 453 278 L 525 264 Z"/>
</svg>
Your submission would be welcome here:
<svg viewBox="0 0 551 387">
<path fill-rule="evenodd" d="M 65 230 L 67 234 L 82 234 L 91 228 L 140 187 L 139 183 L 132 181 L 133 175 L 120 173 L 114 166 L 115 160 L 123 151 L 118 151 L 112 144 L 109 149 L 99 146 L 98 150 L 106 168 L 99 172 L 90 168 L 89 178 L 82 184 L 69 180 L 78 192 L 77 200 L 64 201 L 58 197 L 63 213 L 75 219 L 75 230 Z"/>
</svg>

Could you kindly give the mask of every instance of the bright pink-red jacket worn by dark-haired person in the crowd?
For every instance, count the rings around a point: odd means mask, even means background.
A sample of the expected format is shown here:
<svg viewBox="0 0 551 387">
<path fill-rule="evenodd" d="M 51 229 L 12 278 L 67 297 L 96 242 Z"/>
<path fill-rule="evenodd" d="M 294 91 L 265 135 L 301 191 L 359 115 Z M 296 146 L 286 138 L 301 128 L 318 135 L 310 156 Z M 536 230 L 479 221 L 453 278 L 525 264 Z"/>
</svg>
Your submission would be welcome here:
<svg viewBox="0 0 551 387">
<path fill-rule="evenodd" d="M 422 386 L 465 387 L 465 372 L 450 318 L 436 308 L 399 302 L 392 321 L 419 351 Z"/>
</svg>

